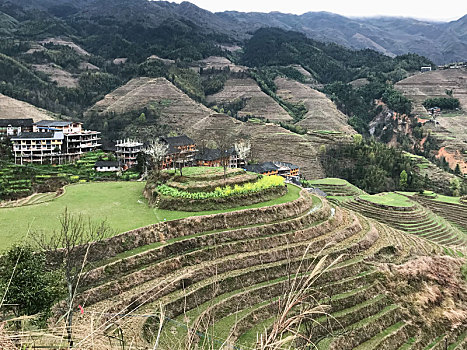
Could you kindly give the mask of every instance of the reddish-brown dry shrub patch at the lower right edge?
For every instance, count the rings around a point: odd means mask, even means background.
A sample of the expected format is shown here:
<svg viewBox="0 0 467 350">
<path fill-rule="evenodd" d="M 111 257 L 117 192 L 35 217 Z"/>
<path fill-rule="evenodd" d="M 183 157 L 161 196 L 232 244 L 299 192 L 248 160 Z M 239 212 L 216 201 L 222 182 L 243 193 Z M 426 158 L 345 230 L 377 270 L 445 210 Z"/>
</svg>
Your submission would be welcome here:
<svg viewBox="0 0 467 350">
<path fill-rule="evenodd" d="M 388 290 L 425 325 L 456 328 L 467 322 L 467 284 L 462 279 L 464 259 L 422 256 L 402 265 L 382 264 Z"/>
</svg>

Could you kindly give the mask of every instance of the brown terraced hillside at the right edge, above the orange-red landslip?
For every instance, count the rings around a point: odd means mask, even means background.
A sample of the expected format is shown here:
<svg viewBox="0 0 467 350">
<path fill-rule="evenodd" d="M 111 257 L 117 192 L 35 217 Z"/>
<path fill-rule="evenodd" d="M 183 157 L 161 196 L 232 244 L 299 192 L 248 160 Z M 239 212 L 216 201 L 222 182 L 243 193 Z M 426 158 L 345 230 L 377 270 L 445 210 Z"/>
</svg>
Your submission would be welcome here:
<svg viewBox="0 0 467 350">
<path fill-rule="evenodd" d="M 414 112 L 427 114 L 422 106 L 430 97 L 446 97 L 446 90 L 453 90 L 461 107 L 467 110 L 467 70 L 445 69 L 420 73 L 399 81 L 396 89 L 414 102 Z"/>
</svg>

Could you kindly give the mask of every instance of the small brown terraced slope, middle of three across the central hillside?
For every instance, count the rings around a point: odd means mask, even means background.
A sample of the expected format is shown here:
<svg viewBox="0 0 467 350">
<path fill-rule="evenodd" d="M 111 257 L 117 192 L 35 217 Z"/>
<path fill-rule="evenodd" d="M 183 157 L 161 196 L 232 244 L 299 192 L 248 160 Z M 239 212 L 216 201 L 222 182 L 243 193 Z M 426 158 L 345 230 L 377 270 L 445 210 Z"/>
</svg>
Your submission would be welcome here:
<svg viewBox="0 0 467 350">
<path fill-rule="evenodd" d="M 290 121 L 292 117 L 272 97 L 261 91 L 251 78 L 231 78 L 225 82 L 222 91 L 206 98 L 208 103 L 231 103 L 235 100 L 246 101 L 239 115 L 251 115 L 270 121 Z"/>
</svg>

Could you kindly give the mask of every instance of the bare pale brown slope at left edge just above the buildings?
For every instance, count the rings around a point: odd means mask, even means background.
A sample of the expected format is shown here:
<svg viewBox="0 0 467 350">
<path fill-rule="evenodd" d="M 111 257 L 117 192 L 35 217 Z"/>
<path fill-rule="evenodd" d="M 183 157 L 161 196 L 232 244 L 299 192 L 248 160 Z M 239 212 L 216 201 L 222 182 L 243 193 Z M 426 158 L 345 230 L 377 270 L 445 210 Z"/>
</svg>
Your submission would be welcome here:
<svg viewBox="0 0 467 350">
<path fill-rule="evenodd" d="M 51 119 L 53 115 L 29 103 L 0 94 L 0 119 Z"/>
</svg>

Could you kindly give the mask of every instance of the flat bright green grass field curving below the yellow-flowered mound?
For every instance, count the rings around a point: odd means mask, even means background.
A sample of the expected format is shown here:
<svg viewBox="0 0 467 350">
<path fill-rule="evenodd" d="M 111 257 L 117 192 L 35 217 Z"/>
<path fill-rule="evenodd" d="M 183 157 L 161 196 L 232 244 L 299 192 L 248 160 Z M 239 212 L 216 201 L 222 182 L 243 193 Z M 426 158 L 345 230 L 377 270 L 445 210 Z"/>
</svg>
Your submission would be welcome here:
<svg viewBox="0 0 467 350">
<path fill-rule="evenodd" d="M 0 208 L 0 251 L 24 241 L 28 228 L 29 235 L 38 231 L 52 234 L 59 229 L 59 217 L 65 208 L 94 222 L 105 220 L 117 234 L 164 220 L 286 203 L 297 199 L 300 193 L 300 188 L 288 185 L 286 195 L 268 202 L 223 211 L 182 212 L 149 207 L 142 195 L 144 185 L 143 182 L 76 184 L 67 186 L 63 196 L 46 203 Z"/>
</svg>

